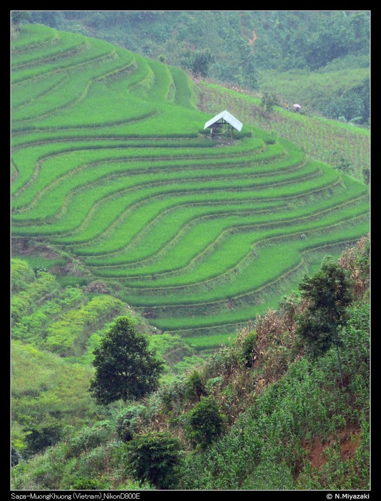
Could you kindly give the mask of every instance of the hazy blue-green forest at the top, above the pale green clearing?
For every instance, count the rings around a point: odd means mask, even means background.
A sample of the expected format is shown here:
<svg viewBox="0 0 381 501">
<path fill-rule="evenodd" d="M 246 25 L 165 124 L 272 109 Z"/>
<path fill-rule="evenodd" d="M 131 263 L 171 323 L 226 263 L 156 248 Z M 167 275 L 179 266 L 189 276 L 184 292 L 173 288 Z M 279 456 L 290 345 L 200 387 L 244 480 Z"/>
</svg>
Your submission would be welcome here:
<svg viewBox="0 0 381 501">
<path fill-rule="evenodd" d="M 33 22 L 55 26 L 55 13 L 33 13 Z M 65 12 L 73 23 L 92 26 L 97 37 L 179 65 L 184 50 L 210 48 L 210 75 L 249 88 L 257 69 L 325 68 L 369 52 L 369 12 Z M 45 19 L 46 18 L 46 19 Z M 173 29 L 176 27 L 176 30 Z"/>
</svg>

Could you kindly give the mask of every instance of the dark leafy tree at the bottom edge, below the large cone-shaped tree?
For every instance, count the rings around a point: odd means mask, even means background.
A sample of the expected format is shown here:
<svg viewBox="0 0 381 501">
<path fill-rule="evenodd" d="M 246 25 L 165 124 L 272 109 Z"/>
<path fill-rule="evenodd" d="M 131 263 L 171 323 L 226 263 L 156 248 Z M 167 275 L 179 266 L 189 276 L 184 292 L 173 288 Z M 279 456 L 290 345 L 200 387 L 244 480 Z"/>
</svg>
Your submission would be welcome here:
<svg viewBox="0 0 381 501">
<path fill-rule="evenodd" d="M 168 432 L 138 435 L 127 446 L 129 472 L 142 484 L 148 481 L 159 489 L 175 487 L 181 442 Z"/>
</svg>

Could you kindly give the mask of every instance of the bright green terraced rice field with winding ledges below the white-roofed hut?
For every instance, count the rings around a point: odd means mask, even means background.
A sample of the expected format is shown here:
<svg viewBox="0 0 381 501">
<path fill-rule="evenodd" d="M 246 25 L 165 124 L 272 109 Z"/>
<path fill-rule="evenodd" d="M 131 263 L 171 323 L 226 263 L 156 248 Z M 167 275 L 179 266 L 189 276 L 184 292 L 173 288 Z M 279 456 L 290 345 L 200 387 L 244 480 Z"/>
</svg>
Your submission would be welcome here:
<svg viewBox="0 0 381 501">
<path fill-rule="evenodd" d="M 363 183 L 254 127 L 200 134 L 177 68 L 32 25 L 12 73 L 14 237 L 68 250 L 197 347 L 368 232 Z"/>
</svg>

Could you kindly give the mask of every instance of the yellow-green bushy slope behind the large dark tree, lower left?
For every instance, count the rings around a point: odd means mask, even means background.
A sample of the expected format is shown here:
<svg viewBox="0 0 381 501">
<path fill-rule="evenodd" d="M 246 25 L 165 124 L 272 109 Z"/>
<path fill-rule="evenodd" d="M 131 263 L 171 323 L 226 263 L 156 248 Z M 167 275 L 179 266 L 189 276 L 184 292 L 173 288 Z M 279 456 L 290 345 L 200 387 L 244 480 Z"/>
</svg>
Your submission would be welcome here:
<svg viewBox="0 0 381 501">
<path fill-rule="evenodd" d="M 178 371 L 177 364 L 188 368 L 202 361 L 179 337 L 155 334 L 105 284 L 61 287 L 43 271 L 42 258 L 34 259 L 40 263 L 35 270 L 25 260 L 12 260 L 12 443 L 23 454 L 102 414 L 88 392 L 93 351 L 119 315 L 151 334 L 150 347 L 166 361 L 163 381 Z M 32 432 L 39 436 L 33 443 Z"/>
</svg>

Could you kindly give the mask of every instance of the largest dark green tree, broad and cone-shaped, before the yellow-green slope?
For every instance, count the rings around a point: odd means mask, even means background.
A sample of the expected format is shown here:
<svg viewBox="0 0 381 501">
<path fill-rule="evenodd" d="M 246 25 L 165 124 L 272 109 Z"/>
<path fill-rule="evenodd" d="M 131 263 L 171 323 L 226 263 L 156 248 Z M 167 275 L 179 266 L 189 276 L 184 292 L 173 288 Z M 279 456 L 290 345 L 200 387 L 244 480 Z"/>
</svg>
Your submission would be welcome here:
<svg viewBox="0 0 381 501">
<path fill-rule="evenodd" d="M 90 392 L 100 404 L 138 398 L 158 388 L 164 362 L 148 349 L 128 317 L 119 317 L 94 350 L 95 379 Z"/>
</svg>

